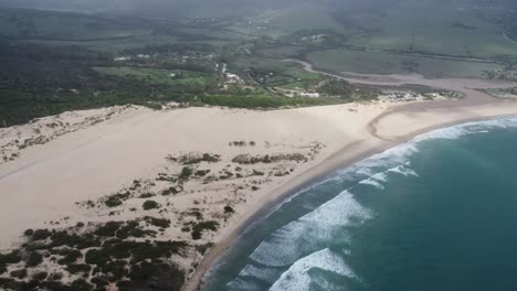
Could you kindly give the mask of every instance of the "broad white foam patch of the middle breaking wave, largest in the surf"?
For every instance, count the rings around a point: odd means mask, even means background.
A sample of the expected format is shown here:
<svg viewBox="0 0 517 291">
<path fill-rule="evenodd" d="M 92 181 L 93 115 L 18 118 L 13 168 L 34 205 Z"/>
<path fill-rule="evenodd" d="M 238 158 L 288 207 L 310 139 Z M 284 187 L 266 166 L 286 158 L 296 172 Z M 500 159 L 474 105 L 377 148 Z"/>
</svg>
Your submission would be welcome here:
<svg viewBox="0 0 517 291">
<path fill-rule="evenodd" d="M 230 290 L 252 290 L 252 287 L 245 285 L 246 282 L 254 284 L 255 280 L 267 282 L 271 280 L 268 278 L 276 278 L 273 273 L 277 273 L 278 268 L 292 266 L 304 254 L 313 254 L 315 249 L 325 247 L 329 239 L 347 241 L 346 228 L 370 217 L 370 211 L 362 207 L 351 193 L 344 191 L 315 211 L 274 231 L 253 251 L 251 262 L 228 287 Z"/>
</svg>

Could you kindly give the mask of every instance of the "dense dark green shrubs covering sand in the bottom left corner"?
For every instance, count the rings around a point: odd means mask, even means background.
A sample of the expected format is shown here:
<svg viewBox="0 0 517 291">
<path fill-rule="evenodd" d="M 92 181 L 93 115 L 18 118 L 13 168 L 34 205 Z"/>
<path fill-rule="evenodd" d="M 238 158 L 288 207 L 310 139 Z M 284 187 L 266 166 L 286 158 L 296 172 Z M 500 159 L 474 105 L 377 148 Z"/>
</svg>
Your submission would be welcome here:
<svg viewBox="0 0 517 291">
<path fill-rule="evenodd" d="M 7 267 L 25 260 L 24 268 L 11 267 L 8 277 L 0 278 L 0 289 L 92 291 L 106 290 L 104 287 L 113 283 L 119 290 L 180 290 L 186 276 L 170 258 L 181 255 L 189 245 L 151 241 L 148 238 L 156 231 L 140 223 L 162 229 L 170 227 L 168 219 L 146 216 L 138 220 L 101 224 L 81 235 L 74 234 L 76 228 L 25 231 L 25 244 L 11 252 L 0 254 L 0 274 L 7 272 Z M 203 224 L 199 228 L 212 229 L 213 224 Z M 199 248 L 205 250 L 209 246 Z M 85 254 L 84 260 L 81 250 Z M 40 252 L 49 255 L 43 257 Z M 45 261 L 57 261 L 62 269 L 54 268 L 52 273 L 32 269 Z M 63 272 L 82 279 L 62 281 Z"/>
</svg>

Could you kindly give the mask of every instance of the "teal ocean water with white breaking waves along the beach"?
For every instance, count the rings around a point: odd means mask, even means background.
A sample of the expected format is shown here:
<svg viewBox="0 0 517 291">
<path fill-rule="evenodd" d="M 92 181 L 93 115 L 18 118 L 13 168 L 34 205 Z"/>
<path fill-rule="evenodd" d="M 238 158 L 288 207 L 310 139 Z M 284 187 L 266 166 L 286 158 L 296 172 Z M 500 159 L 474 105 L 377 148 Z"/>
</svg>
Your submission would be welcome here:
<svg viewBox="0 0 517 291">
<path fill-rule="evenodd" d="M 419 136 L 252 224 L 222 290 L 517 290 L 517 118 Z"/>
</svg>

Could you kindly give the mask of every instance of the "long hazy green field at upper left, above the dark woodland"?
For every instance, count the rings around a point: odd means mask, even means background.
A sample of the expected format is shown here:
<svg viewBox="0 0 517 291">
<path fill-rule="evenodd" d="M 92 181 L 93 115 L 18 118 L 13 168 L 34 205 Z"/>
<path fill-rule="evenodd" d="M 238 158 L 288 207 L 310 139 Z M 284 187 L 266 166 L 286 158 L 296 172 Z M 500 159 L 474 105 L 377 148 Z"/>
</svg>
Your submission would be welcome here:
<svg viewBox="0 0 517 291">
<path fill-rule="evenodd" d="M 0 9 L 0 39 L 110 53 L 187 42 L 222 46 L 241 40 L 218 28 L 190 28 L 171 20 L 20 9 Z"/>
</svg>

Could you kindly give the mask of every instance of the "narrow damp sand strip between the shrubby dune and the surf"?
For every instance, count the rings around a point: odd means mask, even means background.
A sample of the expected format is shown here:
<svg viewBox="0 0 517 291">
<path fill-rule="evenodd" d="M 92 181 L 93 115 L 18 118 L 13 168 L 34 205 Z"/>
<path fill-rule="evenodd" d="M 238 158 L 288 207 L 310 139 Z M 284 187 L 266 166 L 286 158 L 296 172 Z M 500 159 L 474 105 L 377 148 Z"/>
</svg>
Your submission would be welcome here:
<svg viewBox="0 0 517 291">
<path fill-rule="evenodd" d="M 508 105 L 510 106 L 506 107 Z M 410 112 L 410 114 L 419 112 L 419 110 L 413 109 L 412 106 L 413 105 L 395 107 L 393 110 L 390 110 L 388 112 L 380 115 L 379 118 L 382 119 L 383 117 L 387 117 L 389 115 L 397 115 L 400 112 Z M 454 107 L 450 109 L 454 109 Z M 221 256 L 223 256 L 223 254 L 232 246 L 232 242 L 234 241 L 234 239 L 243 230 L 245 230 L 245 228 L 250 226 L 250 224 L 252 224 L 254 220 L 261 218 L 263 215 L 271 212 L 271 209 L 274 206 L 276 206 L 278 203 L 282 203 L 282 201 L 284 201 L 285 198 L 296 194 L 304 186 L 308 186 L 317 182 L 318 180 L 325 177 L 326 175 L 331 174 L 333 172 L 337 170 L 345 169 L 376 153 L 380 153 L 384 150 L 405 143 L 419 134 L 423 134 L 425 132 L 429 132 L 435 129 L 452 127 L 455 125 L 461 125 L 461 123 L 471 122 L 471 121 L 481 121 L 484 119 L 516 116 L 517 104 L 510 103 L 510 104 L 505 105 L 503 103 L 495 103 L 489 106 L 482 106 L 479 108 L 476 108 L 475 112 L 478 112 L 478 115 L 475 117 L 471 115 L 464 115 L 462 117 L 450 116 L 449 117 L 450 120 L 445 119 L 444 122 L 434 121 L 434 123 L 430 122 L 429 125 L 421 123 L 420 126 L 423 126 L 422 128 L 415 129 L 408 133 L 400 134 L 400 132 L 397 131 L 398 134 L 393 134 L 394 133 L 393 131 L 388 131 L 387 132 L 388 137 L 386 139 L 379 139 L 378 140 L 379 142 L 377 144 L 369 144 L 369 147 L 362 148 L 361 150 L 352 151 L 352 153 L 350 153 L 349 147 L 345 147 L 344 149 L 339 150 L 331 157 L 324 160 L 321 163 L 315 165 L 312 169 L 308 169 L 303 174 L 295 176 L 292 180 L 287 181 L 284 185 L 273 191 L 271 195 L 268 195 L 267 201 L 265 201 L 262 205 L 257 205 L 257 208 L 253 213 L 250 213 L 250 215 L 245 217 L 242 224 L 234 226 L 231 235 L 226 236 L 224 240 L 222 240 L 217 246 L 214 246 L 214 248 L 212 248 L 209 251 L 209 254 L 207 254 L 203 257 L 196 273 L 190 278 L 190 280 L 186 284 L 183 290 L 184 291 L 202 290 L 201 287 L 202 287 L 203 277 L 207 274 L 207 272 L 210 270 L 210 268 L 217 261 L 217 259 L 221 258 Z M 446 116 L 442 116 L 442 117 L 446 117 Z M 372 120 L 372 122 L 369 125 L 370 130 L 374 128 L 376 129 L 374 131 L 378 132 L 377 126 L 381 123 L 380 119 L 376 118 Z M 359 143 L 359 144 L 362 144 L 362 143 Z"/>
</svg>

